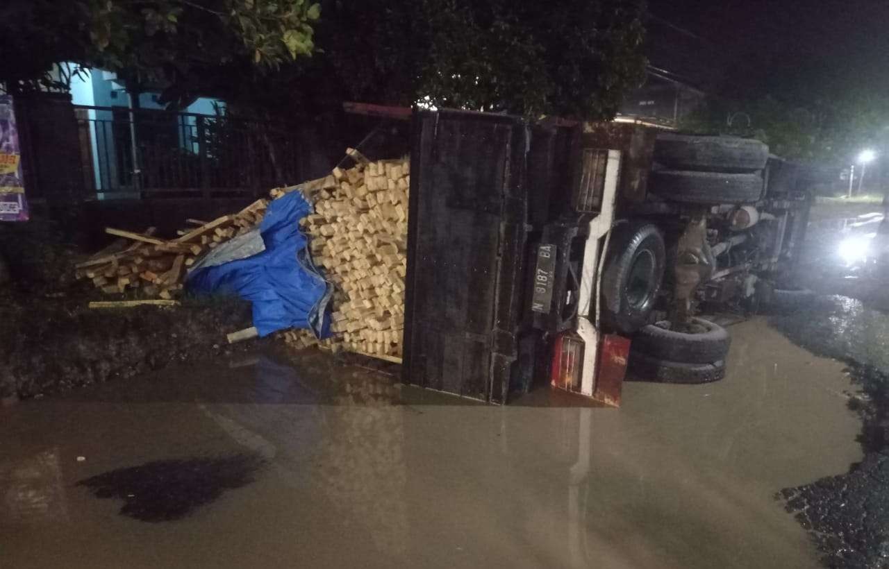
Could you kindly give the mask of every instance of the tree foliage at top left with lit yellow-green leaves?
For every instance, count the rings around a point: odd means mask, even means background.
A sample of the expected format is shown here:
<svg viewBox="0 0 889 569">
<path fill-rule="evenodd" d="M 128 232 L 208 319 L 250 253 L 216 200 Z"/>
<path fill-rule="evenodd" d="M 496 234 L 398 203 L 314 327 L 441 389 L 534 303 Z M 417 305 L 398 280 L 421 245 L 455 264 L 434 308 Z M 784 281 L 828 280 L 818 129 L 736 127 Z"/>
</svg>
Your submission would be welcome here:
<svg viewBox="0 0 889 569">
<path fill-rule="evenodd" d="M 0 80 L 73 61 L 168 85 L 196 68 L 276 69 L 315 51 L 310 0 L 11 0 L 0 8 Z"/>
</svg>

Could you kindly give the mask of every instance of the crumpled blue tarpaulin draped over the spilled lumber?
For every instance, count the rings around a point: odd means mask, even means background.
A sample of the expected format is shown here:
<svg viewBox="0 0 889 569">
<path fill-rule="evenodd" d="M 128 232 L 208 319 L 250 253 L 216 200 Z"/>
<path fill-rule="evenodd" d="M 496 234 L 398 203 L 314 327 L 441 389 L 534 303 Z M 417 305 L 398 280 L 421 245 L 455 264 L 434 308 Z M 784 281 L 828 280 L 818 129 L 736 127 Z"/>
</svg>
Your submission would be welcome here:
<svg viewBox="0 0 889 569">
<path fill-rule="evenodd" d="M 327 304 L 332 288 L 312 265 L 308 238 L 300 219 L 312 206 L 300 192 L 272 201 L 260 225 L 265 250 L 188 274 L 188 289 L 234 293 L 253 304 L 253 326 L 260 336 L 286 328 L 308 328 L 316 337 L 330 336 Z"/>
</svg>

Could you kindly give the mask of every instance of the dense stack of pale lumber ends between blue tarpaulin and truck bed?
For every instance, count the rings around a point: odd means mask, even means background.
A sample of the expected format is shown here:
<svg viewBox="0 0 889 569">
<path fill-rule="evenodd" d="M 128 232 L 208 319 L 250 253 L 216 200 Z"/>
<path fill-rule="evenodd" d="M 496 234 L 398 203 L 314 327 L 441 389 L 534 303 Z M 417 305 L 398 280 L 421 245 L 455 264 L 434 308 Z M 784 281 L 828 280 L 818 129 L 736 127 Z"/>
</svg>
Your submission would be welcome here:
<svg viewBox="0 0 889 569">
<path fill-rule="evenodd" d="M 292 330 L 284 337 L 300 346 L 400 361 L 410 162 L 371 162 L 351 148 L 347 154 L 352 168 L 334 168 L 302 186 L 315 213 L 300 223 L 312 259 L 334 285 L 333 336 L 318 343 L 308 331 Z"/>
</svg>

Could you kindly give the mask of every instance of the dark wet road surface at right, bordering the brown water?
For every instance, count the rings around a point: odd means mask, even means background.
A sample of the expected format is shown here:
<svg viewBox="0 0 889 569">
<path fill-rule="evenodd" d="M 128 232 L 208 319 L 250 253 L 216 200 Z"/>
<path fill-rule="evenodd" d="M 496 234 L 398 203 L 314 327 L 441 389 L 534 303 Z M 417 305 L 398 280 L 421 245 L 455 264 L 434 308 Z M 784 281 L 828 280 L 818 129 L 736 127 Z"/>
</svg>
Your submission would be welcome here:
<svg viewBox="0 0 889 569">
<path fill-rule="evenodd" d="M 813 531 L 831 567 L 884 567 L 889 558 L 889 315 L 846 296 L 823 296 L 806 312 L 772 319 L 805 348 L 847 364 L 868 454 L 848 474 L 788 488 L 781 495 Z"/>
</svg>

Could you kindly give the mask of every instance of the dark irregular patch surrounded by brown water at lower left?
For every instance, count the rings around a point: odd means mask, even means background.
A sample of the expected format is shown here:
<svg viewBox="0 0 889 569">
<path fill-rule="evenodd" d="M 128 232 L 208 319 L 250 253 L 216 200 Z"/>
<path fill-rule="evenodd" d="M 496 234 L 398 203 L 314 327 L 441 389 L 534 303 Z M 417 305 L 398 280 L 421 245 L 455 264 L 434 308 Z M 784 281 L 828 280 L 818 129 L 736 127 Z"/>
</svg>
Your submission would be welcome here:
<svg viewBox="0 0 889 569">
<path fill-rule="evenodd" d="M 262 463 L 254 454 L 146 462 L 86 478 L 77 486 L 86 486 L 97 498 L 123 500 L 122 516 L 165 522 L 185 518 L 226 490 L 250 484 Z"/>
</svg>

